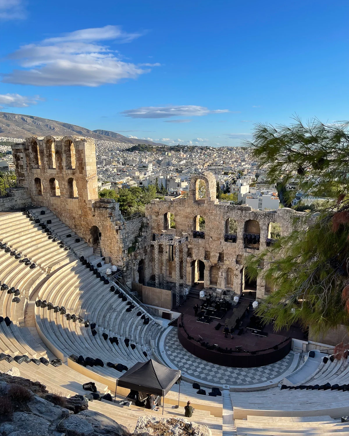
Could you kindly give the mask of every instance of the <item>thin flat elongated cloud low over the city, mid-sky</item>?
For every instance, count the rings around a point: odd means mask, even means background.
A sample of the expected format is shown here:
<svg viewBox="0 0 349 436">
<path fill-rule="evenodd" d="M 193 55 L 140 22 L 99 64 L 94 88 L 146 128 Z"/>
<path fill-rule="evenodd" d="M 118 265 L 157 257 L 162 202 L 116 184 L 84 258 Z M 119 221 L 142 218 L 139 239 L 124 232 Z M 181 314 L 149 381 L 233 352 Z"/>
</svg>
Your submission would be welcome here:
<svg viewBox="0 0 349 436">
<path fill-rule="evenodd" d="M 170 118 L 171 116 L 203 116 L 210 113 L 229 112 L 228 109 L 209 110 L 203 106 L 147 106 L 121 112 L 131 118 Z"/>
</svg>

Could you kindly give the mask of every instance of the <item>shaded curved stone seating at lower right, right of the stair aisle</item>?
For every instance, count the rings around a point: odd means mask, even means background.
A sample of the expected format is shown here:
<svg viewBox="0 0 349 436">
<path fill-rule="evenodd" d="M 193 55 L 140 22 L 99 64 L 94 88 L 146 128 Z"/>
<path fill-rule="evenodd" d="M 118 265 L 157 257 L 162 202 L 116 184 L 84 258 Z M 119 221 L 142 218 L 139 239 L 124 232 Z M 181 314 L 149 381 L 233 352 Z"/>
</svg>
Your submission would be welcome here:
<svg viewBox="0 0 349 436">
<path fill-rule="evenodd" d="M 326 359 L 323 359 L 324 356 Z M 349 384 L 349 361 L 328 357 L 331 356 L 315 351 L 314 358 L 308 357 L 302 367 L 284 378 L 283 382 L 288 382 L 288 386 L 302 388 L 290 389 L 283 385 L 282 389 L 231 392 L 234 419 L 248 419 L 249 416 L 330 416 L 337 419 L 348 415 L 349 392 L 346 385 Z M 323 389 L 326 383 L 330 384 L 330 388 Z M 343 386 L 344 390 L 338 389 L 338 386 Z M 325 431 L 325 427 L 323 429 Z M 349 431 L 349 427 L 347 429 Z"/>
</svg>

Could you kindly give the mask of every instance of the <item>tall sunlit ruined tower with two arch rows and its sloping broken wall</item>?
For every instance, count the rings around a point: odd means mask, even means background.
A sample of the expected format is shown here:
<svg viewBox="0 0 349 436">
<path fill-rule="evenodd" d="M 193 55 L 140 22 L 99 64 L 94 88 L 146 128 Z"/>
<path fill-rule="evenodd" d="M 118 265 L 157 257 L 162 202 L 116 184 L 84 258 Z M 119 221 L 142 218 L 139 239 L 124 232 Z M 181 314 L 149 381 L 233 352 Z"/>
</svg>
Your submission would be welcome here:
<svg viewBox="0 0 349 436">
<path fill-rule="evenodd" d="M 149 237 L 144 219 L 125 221 L 115 200 L 98 198 L 94 141 L 33 136 L 15 144 L 12 153 L 17 184 L 32 204 L 48 207 L 90 246 L 110 256 L 130 283 L 127 266 L 144 252 Z"/>
</svg>

